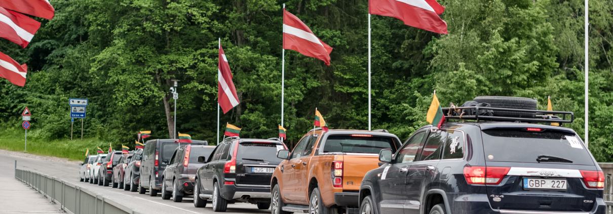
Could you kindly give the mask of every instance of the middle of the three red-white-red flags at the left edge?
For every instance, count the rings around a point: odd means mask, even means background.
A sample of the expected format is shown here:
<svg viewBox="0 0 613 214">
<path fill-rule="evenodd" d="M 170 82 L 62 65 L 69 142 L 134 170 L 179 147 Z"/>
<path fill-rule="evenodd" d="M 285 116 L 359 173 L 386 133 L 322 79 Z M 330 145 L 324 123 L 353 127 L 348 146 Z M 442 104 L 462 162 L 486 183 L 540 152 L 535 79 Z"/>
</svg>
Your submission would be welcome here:
<svg viewBox="0 0 613 214">
<path fill-rule="evenodd" d="M 25 48 L 39 28 L 40 23 L 38 21 L 0 7 L 0 37 Z"/>
</svg>

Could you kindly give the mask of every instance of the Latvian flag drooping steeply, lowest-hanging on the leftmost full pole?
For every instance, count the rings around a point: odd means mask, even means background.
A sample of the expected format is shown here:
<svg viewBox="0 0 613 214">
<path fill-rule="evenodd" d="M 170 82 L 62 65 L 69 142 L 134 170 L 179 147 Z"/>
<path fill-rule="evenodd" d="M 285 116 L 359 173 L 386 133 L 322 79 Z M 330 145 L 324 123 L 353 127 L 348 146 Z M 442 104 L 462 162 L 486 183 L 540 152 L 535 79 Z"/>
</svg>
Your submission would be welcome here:
<svg viewBox="0 0 613 214">
<path fill-rule="evenodd" d="M 236 94 L 236 87 L 232 82 L 232 71 L 230 71 L 230 64 L 228 64 L 226 54 L 223 48 L 219 46 L 219 69 L 218 69 L 218 94 L 217 100 L 219 106 L 226 114 L 234 106 L 238 105 L 238 95 Z"/>
</svg>

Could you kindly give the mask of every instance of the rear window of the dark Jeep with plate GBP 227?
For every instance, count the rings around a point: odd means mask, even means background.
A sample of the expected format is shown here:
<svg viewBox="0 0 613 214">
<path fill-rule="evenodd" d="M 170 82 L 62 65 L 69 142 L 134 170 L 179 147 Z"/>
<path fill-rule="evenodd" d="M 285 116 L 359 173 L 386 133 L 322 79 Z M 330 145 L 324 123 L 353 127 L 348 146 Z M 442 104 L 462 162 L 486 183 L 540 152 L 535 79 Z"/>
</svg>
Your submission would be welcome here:
<svg viewBox="0 0 613 214">
<path fill-rule="evenodd" d="M 540 163 L 594 165 L 581 138 L 573 133 L 493 129 L 483 130 L 482 136 L 485 161 L 539 163 L 539 159 Z"/>
</svg>

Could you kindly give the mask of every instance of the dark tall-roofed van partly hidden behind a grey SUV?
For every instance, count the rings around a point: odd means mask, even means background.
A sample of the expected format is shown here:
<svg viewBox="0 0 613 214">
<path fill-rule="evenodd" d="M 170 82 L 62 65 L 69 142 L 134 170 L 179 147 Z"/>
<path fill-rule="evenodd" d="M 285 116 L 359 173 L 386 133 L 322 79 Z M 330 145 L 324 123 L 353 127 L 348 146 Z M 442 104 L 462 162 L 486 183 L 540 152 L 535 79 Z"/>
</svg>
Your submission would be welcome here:
<svg viewBox="0 0 613 214">
<path fill-rule="evenodd" d="M 162 189 L 162 174 L 166 165 L 170 163 L 172 154 L 180 145 L 178 139 L 152 139 L 145 142 L 143 150 L 143 160 L 140 164 L 139 193 L 149 190 L 150 196 L 158 196 L 158 191 Z M 208 145 L 207 141 L 192 140 L 192 145 Z"/>
</svg>

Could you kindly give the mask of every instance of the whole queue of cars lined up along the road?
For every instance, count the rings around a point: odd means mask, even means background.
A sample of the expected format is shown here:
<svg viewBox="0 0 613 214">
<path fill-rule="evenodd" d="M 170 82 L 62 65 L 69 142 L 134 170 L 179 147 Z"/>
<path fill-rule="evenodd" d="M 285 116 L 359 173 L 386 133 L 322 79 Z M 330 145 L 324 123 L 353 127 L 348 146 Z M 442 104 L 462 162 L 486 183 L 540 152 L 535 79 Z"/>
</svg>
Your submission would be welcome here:
<svg viewBox="0 0 613 214">
<path fill-rule="evenodd" d="M 441 127 L 421 127 L 404 142 L 386 130 L 321 128 L 293 150 L 276 138 L 218 146 L 155 139 L 120 165 L 113 152 L 88 157 L 80 174 L 175 202 L 192 197 L 195 207 L 211 202 L 215 212 L 247 202 L 272 214 L 605 213 L 603 171 L 560 125 L 573 113 L 537 111 L 527 98 L 478 100 L 492 105 L 443 108 Z M 117 168 L 108 178 L 94 169 L 106 161 Z"/>
</svg>

